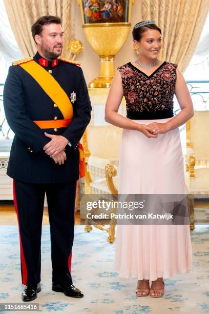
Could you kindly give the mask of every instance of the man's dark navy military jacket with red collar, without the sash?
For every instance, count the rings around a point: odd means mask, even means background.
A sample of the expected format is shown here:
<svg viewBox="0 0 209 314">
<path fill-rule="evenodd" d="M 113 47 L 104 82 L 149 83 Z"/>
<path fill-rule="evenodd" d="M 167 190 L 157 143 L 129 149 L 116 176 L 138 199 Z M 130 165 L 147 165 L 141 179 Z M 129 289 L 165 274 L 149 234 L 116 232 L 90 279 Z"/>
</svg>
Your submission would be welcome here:
<svg viewBox="0 0 209 314">
<path fill-rule="evenodd" d="M 34 61 L 43 59 L 37 52 Z M 88 89 L 79 66 L 57 60 L 43 66 L 65 90 L 72 103 L 73 120 L 66 128 L 40 129 L 33 121 L 64 119 L 61 111 L 34 78 L 19 65 L 11 66 L 4 87 L 4 108 L 9 126 L 15 133 L 7 174 L 28 183 L 65 183 L 79 178 L 77 144 L 91 119 Z M 46 63 L 45 63 L 46 64 Z M 56 118 L 55 118 L 56 119 Z M 55 164 L 43 147 L 50 141 L 44 132 L 62 135 L 72 146 L 66 146 L 64 165 Z"/>
</svg>

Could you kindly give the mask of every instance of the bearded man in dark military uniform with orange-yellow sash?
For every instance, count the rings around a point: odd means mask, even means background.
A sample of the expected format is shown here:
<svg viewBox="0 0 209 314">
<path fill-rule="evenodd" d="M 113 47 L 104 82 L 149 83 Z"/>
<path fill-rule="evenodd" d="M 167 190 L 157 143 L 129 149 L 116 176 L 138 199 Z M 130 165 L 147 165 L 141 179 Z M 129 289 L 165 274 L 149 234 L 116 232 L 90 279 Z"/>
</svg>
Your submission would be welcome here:
<svg viewBox="0 0 209 314">
<path fill-rule="evenodd" d="M 14 62 L 4 87 L 5 114 L 15 133 L 7 174 L 13 178 L 20 239 L 23 301 L 40 291 L 40 239 L 45 193 L 48 201 L 52 290 L 80 298 L 72 284 L 76 182 L 83 175 L 79 140 L 90 122 L 91 104 L 81 68 L 57 59 L 63 30 L 56 16 L 32 26 L 34 57 Z M 80 163 L 79 163 L 80 156 Z"/>
</svg>

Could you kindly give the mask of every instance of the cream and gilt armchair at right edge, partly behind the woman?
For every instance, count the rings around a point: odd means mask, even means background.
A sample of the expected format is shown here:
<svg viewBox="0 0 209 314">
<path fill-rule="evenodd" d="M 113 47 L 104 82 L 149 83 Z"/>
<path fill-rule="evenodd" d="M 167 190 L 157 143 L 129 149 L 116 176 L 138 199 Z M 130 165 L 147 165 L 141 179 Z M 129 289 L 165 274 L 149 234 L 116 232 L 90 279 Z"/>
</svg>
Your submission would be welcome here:
<svg viewBox="0 0 209 314">
<path fill-rule="evenodd" d="M 186 172 L 191 225 L 195 228 L 194 199 L 209 198 L 209 111 L 195 111 L 186 123 Z"/>
</svg>

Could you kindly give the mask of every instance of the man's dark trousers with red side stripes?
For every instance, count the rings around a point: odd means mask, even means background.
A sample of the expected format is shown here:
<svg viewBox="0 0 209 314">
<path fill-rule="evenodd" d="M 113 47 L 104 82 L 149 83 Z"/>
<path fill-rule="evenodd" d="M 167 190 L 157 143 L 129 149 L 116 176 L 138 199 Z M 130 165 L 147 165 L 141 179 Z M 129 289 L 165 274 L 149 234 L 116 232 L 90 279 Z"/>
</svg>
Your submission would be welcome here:
<svg viewBox="0 0 209 314">
<path fill-rule="evenodd" d="M 40 241 L 45 192 L 51 234 L 52 281 L 71 284 L 76 181 L 30 184 L 14 180 L 13 191 L 19 225 L 23 284 L 36 285 L 40 282 Z"/>
</svg>

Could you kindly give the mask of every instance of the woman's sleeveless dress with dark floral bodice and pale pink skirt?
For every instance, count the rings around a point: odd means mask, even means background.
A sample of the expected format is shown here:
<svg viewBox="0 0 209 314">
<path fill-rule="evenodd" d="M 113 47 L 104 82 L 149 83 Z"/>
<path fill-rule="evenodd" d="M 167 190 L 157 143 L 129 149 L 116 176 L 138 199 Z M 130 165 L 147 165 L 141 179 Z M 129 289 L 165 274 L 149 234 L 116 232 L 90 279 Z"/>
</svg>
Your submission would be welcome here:
<svg viewBox="0 0 209 314">
<path fill-rule="evenodd" d="M 150 76 L 131 63 L 118 68 L 127 117 L 139 124 L 166 123 L 173 117 L 177 65 L 164 62 Z M 179 129 L 157 138 L 123 129 L 119 194 L 184 194 Z M 117 225 L 115 270 L 123 278 L 169 278 L 193 270 L 190 226 Z"/>
</svg>

